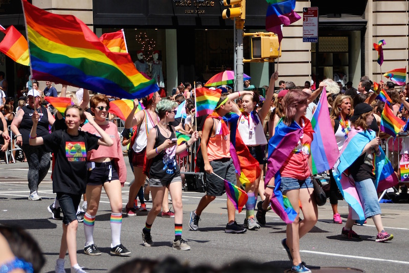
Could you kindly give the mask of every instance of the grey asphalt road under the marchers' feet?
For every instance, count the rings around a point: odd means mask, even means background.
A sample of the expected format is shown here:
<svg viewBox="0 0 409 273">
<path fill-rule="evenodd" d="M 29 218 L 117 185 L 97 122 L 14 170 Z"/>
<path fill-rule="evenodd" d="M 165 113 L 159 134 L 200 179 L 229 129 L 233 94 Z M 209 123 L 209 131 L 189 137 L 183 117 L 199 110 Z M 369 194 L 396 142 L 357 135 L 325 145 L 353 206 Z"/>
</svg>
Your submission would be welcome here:
<svg viewBox="0 0 409 273">
<path fill-rule="evenodd" d="M 58 258 L 62 222 L 53 220 L 47 211 L 55 195 L 52 191 L 51 173 L 39 187 L 41 201 L 27 200 L 27 163 L 0 164 L 0 224 L 19 225 L 39 242 L 47 259 L 43 272 L 53 272 Z M 128 180 L 132 179 L 130 169 Z M 129 187 L 123 188 L 123 204 L 128 198 Z M 267 213 L 267 224 L 261 229 L 247 230 L 245 234 L 226 234 L 224 227 L 227 221 L 226 197 L 221 196 L 212 202 L 201 216 L 199 231 L 189 230 L 190 212 L 196 208 L 203 194 L 183 192 L 184 222 L 183 238 L 192 247 L 189 251 L 173 250 L 174 221 L 157 217 L 151 234 L 155 243 L 153 247 L 142 245 L 141 230 L 146 216 L 127 217 L 122 224 L 122 243 L 132 252 L 130 257 L 113 257 L 109 255 L 110 247 L 110 207 L 105 194 L 101 198 L 100 209 L 95 222 L 94 239 L 101 256 L 83 254 L 85 242 L 83 224 L 79 224 L 77 233 L 78 262 L 89 272 L 105 272 L 133 258 L 163 259 L 172 256 L 190 265 L 207 264 L 215 267 L 232 263 L 236 260 L 252 260 L 268 266 L 270 272 L 283 272 L 290 268 L 286 251 L 281 245 L 285 237 L 285 224 L 275 213 Z M 147 207 L 151 207 L 147 202 Z M 332 223 L 332 211 L 329 202 L 319 207 L 319 221 L 316 226 L 301 239 L 301 257 L 313 271 L 324 271 L 324 267 L 352 267 L 366 272 L 407 272 L 409 271 L 409 205 L 381 204 L 383 225 L 387 232 L 394 235 L 390 242 L 376 243 L 376 229 L 371 219 L 368 224 L 355 226 L 361 241 L 350 241 L 340 236 L 343 225 Z M 339 212 L 345 222 L 347 205 L 339 202 Z M 237 222 L 242 224 L 245 211 L 236 214 Z M 68 255 L 65 268 L 69 269 Z M 319 270 L 321 267 L 321 270 Z M 334 271 L 333 269 L 327 271 Z"/>
</svg>

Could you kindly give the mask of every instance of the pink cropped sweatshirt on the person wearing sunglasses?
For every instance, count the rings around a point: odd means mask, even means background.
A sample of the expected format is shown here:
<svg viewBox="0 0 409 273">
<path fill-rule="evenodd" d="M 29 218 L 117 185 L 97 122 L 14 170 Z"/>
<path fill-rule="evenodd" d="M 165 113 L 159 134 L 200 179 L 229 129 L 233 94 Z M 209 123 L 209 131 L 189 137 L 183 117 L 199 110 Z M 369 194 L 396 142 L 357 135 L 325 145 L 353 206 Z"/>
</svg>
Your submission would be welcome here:
<svg viewBox="0 0 409 273">
<path fill-rule="evenodd" d="M 113 138 L 115 140 L 113 141 L 113 145 L 110 147 L 100 145 L 97 150 L 89 151 L 87 154 L 87 160 L 95 161 L 96 159 L 102 157 L 112 158 L 113 160 L 115 160 L 119 180 L 121 181 L 121 184 L 123 184 L 126 181 L 126 165 L 124 156 L 122 154 L 122 144 L 118 134 L 118 127 L 110 121 L 106 125 L 100 125 L 100 127 L 109 135 L 110 138 Z M 94 126 L 89 123 L 84 124 L 81 129 L 82 131 L 86 131 L 100 137 Z"/>
</svg>

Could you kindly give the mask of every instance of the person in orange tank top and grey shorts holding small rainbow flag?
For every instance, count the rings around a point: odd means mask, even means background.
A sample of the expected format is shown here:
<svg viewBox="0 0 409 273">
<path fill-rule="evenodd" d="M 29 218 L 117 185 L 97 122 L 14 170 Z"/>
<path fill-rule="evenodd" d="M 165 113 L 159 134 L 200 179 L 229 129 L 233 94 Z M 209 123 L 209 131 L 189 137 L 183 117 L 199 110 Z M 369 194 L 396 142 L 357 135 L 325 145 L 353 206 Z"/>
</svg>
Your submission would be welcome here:
<svg viewBox="0 0 409 273">
<path fill-rule="evenodd" d="M 191 230 L 199 229 L 199 220 L 203 209 L 216 199 L 216 196 L 223 195 L 224 182 L 216 175 L 236 184 L 236 170 L 230 155 L 230 131 L 222 119 L 222 116 L 231 111 L 232 101 L 223 94 L 217 102 L 216 109 L 206 118 L 203 125 L 200 150 L 205 163 L 207 188 L 206 195 L 200 199 L 197 208 L 190 214 L 189 227 Z M 227 199 L 227 211 L 229 222 L 224 231 L 226 233 L 246 232 L 246 229 L 235 221 L 236 208 L 229 198 Z"/>
</svg>

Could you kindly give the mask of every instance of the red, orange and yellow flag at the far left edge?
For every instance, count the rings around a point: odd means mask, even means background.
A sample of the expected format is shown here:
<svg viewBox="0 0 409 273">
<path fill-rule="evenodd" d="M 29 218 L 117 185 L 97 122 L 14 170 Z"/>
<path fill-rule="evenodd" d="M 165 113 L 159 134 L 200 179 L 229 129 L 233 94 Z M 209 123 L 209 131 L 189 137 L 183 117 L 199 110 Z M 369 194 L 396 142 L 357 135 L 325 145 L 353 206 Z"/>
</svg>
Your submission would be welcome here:
<svg viewBox="0 0 409 273">
<path fill-rule="evenodd" d="M 0 43 L 0 51 L 17 64 L 30 66 L 29 47 L 26 38 L 13 26 L 5 29 L 0 25 L 0 31 L 6 34 Z"/>
</svg>

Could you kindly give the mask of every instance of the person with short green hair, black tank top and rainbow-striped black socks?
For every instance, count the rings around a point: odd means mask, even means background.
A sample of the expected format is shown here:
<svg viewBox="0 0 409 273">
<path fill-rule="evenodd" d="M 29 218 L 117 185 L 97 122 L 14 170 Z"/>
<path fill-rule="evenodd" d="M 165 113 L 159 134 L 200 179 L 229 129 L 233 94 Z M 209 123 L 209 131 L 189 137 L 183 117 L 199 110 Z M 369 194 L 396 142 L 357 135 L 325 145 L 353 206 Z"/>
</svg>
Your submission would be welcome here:
<svg viewBox="0 0 409 273">
<path fill-rule="evenodd" d="M 176 107 L 175 101 L 167 99 L 159 101 L 156 104 L 156 113 L 160 120 L 148 135 L 146 158 L 152 160 L 149 170 L 152 209 L 146 218 L 142 239 L 145 246 L 153 244 L 150 229 L 157 214 L 161 212 L 165 188 L 168 188 L 175 209 L 175 240 L 172 247 L 178 250 L 189 250 L 190 246 L 181 238 L 183 223 L 182 180 L 175 156 L 189 149 L 189 146 L 198 139 L 199 134 L 195 131 L 187 142 L 180 145 L 176 144 L 175 128 L 169 124 L 175 120 Z"/>
</svg>

